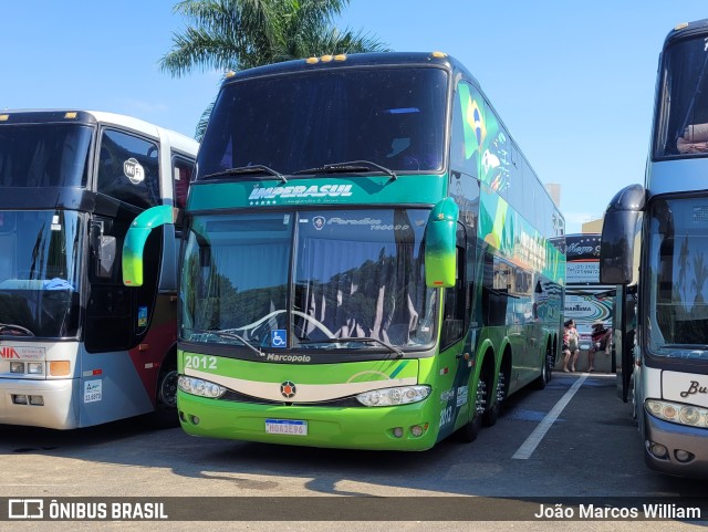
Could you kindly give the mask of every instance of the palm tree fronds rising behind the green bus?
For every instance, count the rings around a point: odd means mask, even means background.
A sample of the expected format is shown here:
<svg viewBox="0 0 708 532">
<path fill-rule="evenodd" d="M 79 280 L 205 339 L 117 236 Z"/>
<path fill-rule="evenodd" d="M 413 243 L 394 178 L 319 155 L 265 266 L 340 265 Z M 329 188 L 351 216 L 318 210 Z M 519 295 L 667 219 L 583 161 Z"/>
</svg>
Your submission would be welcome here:
<svg viewBox="0 0 708 532">
<path fill-rule="evenodd" d="M 385 52 L 363 31 L 340 30 L 334 20 L 350 0 L 184 0 L 174 12 L 188 21 L 173 35 L 160 70 L 179 77 L 197 66 L 223 72 L 312 55 Z M 197 125 L 201 139 L 214 103 Z"/>
</svg>

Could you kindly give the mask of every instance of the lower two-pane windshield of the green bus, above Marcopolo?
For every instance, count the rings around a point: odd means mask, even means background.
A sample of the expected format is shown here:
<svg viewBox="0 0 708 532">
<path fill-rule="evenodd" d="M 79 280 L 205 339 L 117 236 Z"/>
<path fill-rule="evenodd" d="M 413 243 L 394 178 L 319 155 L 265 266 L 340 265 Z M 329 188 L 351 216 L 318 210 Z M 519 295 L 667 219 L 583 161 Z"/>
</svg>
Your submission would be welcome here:
<svg viewBox="0 0 708 532">
<path fill-rule="evenodd" d="M 429 346 L 435 291 L 425 285 L 421 244 L 428 215 L 197 216 L 185 247 L 181 337 L 258 350 Z"/>
</svg>

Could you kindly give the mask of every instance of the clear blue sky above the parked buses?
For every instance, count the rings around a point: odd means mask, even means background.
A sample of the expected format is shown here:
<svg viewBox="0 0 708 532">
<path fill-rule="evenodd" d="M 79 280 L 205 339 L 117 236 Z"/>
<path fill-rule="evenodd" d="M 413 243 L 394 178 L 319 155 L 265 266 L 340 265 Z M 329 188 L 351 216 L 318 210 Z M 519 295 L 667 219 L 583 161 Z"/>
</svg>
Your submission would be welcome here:
<svg viewBox="0 0 708 532">
<path fill-rule="evenodd" d="M 84 108 L 194 136 L 222 72 L 160 72 L 176 0 L 0 0 L 0 109 Z M 643 182 L 657 59 L 705 0 L 351 0 L 337 27 L 395 51 L 442 51 L 477 77 L 566 232 Z"/>
</svg>

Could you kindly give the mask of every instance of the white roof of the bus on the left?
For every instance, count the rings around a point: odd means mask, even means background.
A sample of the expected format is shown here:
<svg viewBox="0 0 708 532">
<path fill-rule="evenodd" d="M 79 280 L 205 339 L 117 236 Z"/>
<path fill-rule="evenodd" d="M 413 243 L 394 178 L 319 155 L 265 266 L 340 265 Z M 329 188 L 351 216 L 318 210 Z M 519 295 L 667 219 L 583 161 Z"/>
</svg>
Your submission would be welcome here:
<svg viewBox="0 0 708 532">
<path fill-rule="evenodd" d="M 134 116 L 110 113 L 105 111 L 81 111 L 81 109 L 3 109 L 0 111 L 0 124 L 17 123 L 58 123 L 72 122 L 80 124 L 108 124 L 118 127 L 127 127 L 133 131 L 159 138 L 160 134 L 169 139 L 170 145 L 178 150 L 195 154 L 199 143 L 181 133 L 165 127 L 157 126 L 149 122 Z"/>
</svg>

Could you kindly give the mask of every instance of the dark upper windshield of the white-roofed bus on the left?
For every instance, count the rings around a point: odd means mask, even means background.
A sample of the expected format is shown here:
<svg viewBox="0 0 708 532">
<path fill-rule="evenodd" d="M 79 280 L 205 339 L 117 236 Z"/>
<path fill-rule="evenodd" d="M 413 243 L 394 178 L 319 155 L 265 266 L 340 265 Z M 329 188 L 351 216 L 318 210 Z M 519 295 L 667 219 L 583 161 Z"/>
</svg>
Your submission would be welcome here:
<svg viewBox="0 0 708 532">
<path fill-rule="evenodd" d="M 77 124 L 0 128 L 0 186 L 85 187 L 92 134 Z"/>
</svg>

